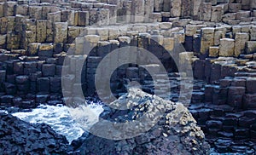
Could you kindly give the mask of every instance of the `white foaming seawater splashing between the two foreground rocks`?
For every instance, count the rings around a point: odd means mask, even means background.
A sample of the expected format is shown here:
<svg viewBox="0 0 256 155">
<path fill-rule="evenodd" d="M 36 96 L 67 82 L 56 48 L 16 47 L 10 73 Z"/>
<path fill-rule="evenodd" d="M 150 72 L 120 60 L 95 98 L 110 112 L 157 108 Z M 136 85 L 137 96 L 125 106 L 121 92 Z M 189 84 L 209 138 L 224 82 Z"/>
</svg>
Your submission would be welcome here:
<svg viewBox="0 0 256 155">
<path fill-rule="evenodd" d="M 32 112 L 16 112 L 12 115 L 20 118 L 29 123 L 47 123 L 56 133 L 65 135 L 67 141 L 71 142 L 79 138 L 84 129 L 88 129 L 98 121 L 99 115 L 103 112 L 103 108 L 99 104 L 90 104 L 88 106 L 82 106 L 84 124 L 79 124 L 74 121 L 67 106 L 48 106 L 41 105 L 33 109 Z M 86 128 L 85 128 L 86 129 Z"/>
</svg>

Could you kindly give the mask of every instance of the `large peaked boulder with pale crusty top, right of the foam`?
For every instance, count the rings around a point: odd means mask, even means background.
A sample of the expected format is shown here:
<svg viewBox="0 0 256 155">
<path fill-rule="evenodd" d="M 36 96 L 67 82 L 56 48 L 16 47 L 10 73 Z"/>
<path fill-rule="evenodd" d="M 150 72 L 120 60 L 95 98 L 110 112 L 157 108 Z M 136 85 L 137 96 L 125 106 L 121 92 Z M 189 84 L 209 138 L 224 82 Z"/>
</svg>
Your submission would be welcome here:
<svg viewBox="0 0 256 155">
<path fill-rule="evenodd" d="M 204 139 L 203 132 L 182 104 L 162 100 L 140 89 L 130 89 L 129 93 L 114 102 L 122 103 L 124 100 L 139 103 L 137 112 L 105 111 L 102 112 L 104 118 L 113 120 L 121 117 L 127 120 L 129 118 L 125 118 L 125 114 L 137 117 L 148 111 L 151 104 L 157 103 L 162 105 L 158 107 L 162 107 L 161 110 L 165 109 L 166 113 L 152 129 L 137 137 L 114 141 L 96 135 L 84 135 L 78 141 L 73 141 L 73 148 L 81 154 L 207 154 L 209 152 L 209 145 Z M 97 123 L 91 129 L 97 129 L 96 127 Z M 129 132 L 129 129 L 126 132 Z"/>
</svg>

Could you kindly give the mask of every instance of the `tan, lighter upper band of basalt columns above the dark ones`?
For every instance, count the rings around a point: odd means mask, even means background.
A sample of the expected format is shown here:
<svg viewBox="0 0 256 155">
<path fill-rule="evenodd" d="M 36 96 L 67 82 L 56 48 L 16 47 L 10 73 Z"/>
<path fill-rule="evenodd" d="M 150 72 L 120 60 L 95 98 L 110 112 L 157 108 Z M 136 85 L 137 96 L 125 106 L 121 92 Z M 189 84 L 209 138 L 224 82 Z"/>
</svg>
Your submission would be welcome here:
<svg viewBox="0 0 256 155">
<path fill-rule="evenodd" d="M 247 41 L 254 41 L 254 8 L 256 7 L 253 1 L 1 1 L 0 48 L 11 50 L 13 53 L 39 55 L 40 43 L 52 43 L 48 44 L 49 47 L 59 47 L 55 49 L 55 53 L 60 53 L 73 47 L 75 37 L 82 32 L 98 35 L 101 41 L 117 40 L 120 36 L 129 36 L 136 32 L 148 32 L 177 37 L 179 43 L 185 42 L 185 36 L 194 37 L 190 38 L 191 41 L 199 36 L 202 40 L 199 43 L 201 54 L 210 52 L 210 56 L 238 56 L 241 50 L 245 49 Z M 138 25 L 123 32 L 116 32 L 116 28 L 109 27 L 87 29 L 88 26 L 143 22 L 161 23 L 153 26 Z M 212 28 L 212 31 L 201 29 L 209 26 L 217 27 L 214 30 Z M 235 34 L 239 32 L 247 33 L 249 36 L 239 34 L 236 37 Z M 108 37 L 109 34 L 113 37 Z M 220 39 L 224 37 L 236 39 L 234 42 L 237 45 L 230 47 L 230 51 L 218 54 L 217 47 L 212 46 L 218 46 Z M 230 43 L 230 46 L 233 44 Z M 253 42 L 248 42 L 246 51 L 252 51 L 252 47 Z"/>
</svg>

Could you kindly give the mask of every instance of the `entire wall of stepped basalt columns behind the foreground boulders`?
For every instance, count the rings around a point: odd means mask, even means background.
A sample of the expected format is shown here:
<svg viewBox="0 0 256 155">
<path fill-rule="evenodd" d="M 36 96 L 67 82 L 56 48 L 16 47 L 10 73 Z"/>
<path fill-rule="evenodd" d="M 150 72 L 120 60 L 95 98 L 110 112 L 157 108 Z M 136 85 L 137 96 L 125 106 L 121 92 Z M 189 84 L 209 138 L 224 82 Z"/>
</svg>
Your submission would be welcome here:
<svg viewBox="0 0 256 155">
<path fill-rule="evenodd" d="M 256 150 L 255 9 L 255 0 L 0 0 L 0 107 L 65 104 L 63 100 L 73 100 L 81 85 L 84 95 L 95 95 L 97 65 L 125 46 L 158 56 L 170 74 L 170 98 L 177 101 L 183 85 L 173 73 L 174 61 L 166 59 L 168 51 L 193 65 L 189 111 L 208 141 L 221 152 L 243 152 L 237 145 Z M 158 42 L 152 43 L 153 38 Z M 90 55 L 84 55 L 84 41 L 95 45 Z M 185 50 L 174 50 L 175 43 L 182 43 Z M 73 55 L 67 55 L 68 50 Z M 189 60 L 184 55 L 190 55 Z M 80 84 L 75 73 L 84 56 Z M 64 58 L 73 65 L 63 66 Z M 115 95 L 125 93 L 120 85 L 127 79 L 154 93 L 143 70 L 148 66 L 119 67 L 110 83 Z M 71 88 L 68 99 L 61 92 L 62 68 L 70 71 L 62 79 Z M 226 146 L 218 138 L 239 141 Z"/>
</svg>

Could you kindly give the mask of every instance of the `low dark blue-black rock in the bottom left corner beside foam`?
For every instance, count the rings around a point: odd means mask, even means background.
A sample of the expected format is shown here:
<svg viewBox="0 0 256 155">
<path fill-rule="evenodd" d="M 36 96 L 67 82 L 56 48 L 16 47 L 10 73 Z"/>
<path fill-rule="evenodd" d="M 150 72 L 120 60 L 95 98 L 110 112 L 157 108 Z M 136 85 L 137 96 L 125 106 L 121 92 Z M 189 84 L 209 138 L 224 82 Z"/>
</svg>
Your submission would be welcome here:
<svg viewBox="0 0 256 155">
<path fill-rule="evenodd" d="M 0 154 L 64 154 L 68 141 L 45 123 L 31 124 L 0 112 Z"/>
</svg>

